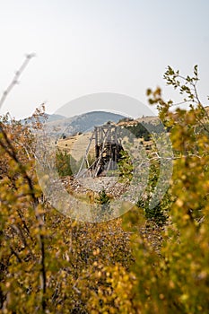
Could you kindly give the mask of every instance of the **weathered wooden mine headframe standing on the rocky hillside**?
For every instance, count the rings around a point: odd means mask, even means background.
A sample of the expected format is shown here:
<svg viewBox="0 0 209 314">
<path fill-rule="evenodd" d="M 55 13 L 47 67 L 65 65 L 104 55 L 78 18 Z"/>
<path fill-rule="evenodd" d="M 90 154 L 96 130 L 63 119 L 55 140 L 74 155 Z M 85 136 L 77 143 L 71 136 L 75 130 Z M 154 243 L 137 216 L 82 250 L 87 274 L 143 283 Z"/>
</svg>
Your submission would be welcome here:
<svg viewBox="0 0 209 314">
<path fill-rule="evenodd" d="M 90 148 L 94 141 L 95 161 L 90 164 Z M 78 170 L 76 178 L 98 177 L 109 170 L 116 170 L 117 162 L 121 158 L 120 152 L 123 150 L 118 136 L 118 126 L 107 123 L 104 126 L 94 126 L 89 144 L 83 156 L 83 161 Z M 86 166 L 83 170 L 83 166 Z"/>
</svg>

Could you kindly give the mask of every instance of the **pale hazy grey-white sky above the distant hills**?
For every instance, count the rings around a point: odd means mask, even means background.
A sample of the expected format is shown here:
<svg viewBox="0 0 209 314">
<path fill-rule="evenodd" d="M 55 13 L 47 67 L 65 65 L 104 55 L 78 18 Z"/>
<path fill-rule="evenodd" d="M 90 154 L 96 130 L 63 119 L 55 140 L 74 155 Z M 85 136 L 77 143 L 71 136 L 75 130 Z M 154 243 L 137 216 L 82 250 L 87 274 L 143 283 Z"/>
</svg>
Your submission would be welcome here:
<svg viewBox="0 0 209 314">
<path fill-rule="evenodd" d="M 1 93 L 25 54 L 36 54 L 0 115 L 29 117 L 45 103 L 48 113 L 68 104 L 73 116 L 92 109 L 74 100 L 106 92 L 139 100 L 147 113 L 147 88 L 161 86 L 165 99 L 179 101 L 162 78 L 168 65 L 182 74 L 198 65 L 198 91 L 207 105 L 208 14 L 208 0 L 0 0 Z M 142 114 L 124 102 L 118 107 Z M 97 109 L 105 108 L 98 103 Z"/>
</svg>

